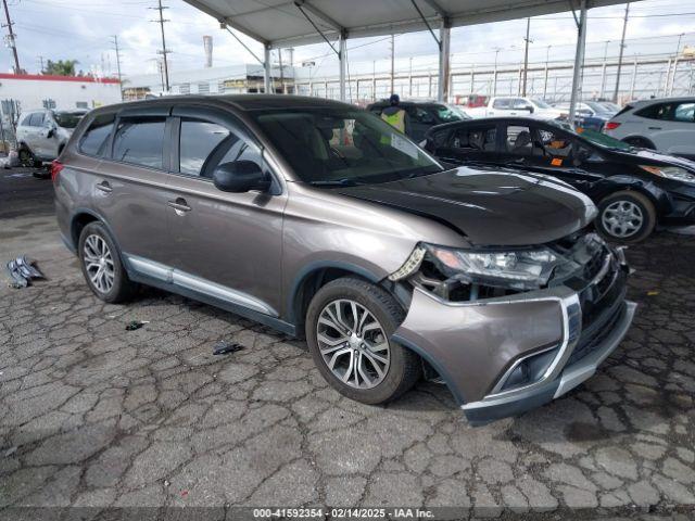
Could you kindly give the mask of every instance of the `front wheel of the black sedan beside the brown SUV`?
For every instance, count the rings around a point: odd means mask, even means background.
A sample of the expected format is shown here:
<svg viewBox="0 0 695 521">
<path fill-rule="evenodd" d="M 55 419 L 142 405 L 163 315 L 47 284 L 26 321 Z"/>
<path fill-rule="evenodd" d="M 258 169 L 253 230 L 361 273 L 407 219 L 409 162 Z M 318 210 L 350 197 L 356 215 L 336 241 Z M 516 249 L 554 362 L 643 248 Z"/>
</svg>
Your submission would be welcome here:
<svg viewBox="0 0 695 521">
<path fill-rule="evenodd" d="M 649 237 L 656 220 L 656 208 L 646 195 L 623 190 L 598 203 L 596 229 L 606 240 L 635 243 Z"/>
</svg>

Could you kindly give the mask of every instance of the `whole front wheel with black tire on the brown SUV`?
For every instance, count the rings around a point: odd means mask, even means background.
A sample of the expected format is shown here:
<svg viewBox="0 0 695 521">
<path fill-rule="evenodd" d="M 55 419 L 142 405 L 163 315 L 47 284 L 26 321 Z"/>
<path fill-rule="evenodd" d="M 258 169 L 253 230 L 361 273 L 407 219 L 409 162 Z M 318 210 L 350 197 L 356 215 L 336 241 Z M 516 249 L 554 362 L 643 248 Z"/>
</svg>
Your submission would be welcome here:
<svg viewBox="0 0 695 521">
<path fill-rule="evenodd" d="M 353 318 L 352 304 L 357 320 Z M 343 312 L 341 317 L 337 315 L 337 306 Z M 327 310 L 340 323 L 330 320 Z M 324 379 L 344 396 L 369 405 L 391 402 L 408 391 L 420 379 L 422 365 L 415 353 L 389 341 L 404 317 L 403 309 L 387 291 L 362 279 L 344 277 L 323 287 L 308 305 L 305 328 L 308 348 Z M 343 330 L 328 322 L 344 325 Z M 348 331 L 361 334 L 349 336 Z M 345 343 L 336 344 L 339 339 Z M 380 361 L 384 359 L 387 364 Z M 331 360 L 333 369 L 329 368 Z M 357 361 L 362 370 L 348 373 L 354 367 L 350 360 Z"/>
</svg>

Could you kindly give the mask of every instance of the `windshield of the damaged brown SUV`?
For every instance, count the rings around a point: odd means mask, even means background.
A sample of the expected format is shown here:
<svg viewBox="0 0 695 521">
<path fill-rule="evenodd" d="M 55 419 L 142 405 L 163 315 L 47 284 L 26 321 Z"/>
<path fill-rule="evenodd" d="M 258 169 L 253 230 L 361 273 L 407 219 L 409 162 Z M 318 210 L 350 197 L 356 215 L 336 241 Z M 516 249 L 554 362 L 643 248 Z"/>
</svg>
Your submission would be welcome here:
<svg viewBox="0 0 695 521">
<path fill-rule="evenodd" d="M 443 170 L 408 138 L 368 112 L 302 107 L 251 115 L 304 182 L 387 182 Z"/>
</svg>

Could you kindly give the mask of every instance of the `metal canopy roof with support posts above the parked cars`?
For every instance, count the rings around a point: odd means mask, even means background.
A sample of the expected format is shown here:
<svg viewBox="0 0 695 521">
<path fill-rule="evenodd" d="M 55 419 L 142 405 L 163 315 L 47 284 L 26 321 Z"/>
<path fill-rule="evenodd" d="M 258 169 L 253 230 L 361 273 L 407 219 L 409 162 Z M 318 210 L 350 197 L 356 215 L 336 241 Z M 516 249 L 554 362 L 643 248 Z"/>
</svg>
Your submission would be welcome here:
<svg viewBox="0 0 695 521">
<path fill-rule="evenodd" d="M 543 14 L 576 13 L 578 50 L 574 75 L 579 85 L 585 11 L 589 8 L 624 3 L 617 0 L 186 0 L 265 46 L 269 51 L 325 41 L 340 60 L 340 92 L 345 99 L 345 40 L 369 36 L 429 30 L 439 48 L 439 92 L 448 97 L 450 30 L 452 27 L 525 18 Z M 438 29 L 438 33 L 435 33 Z M 338 40 L 338 48 L 331 43 Z M 581 50 L 580 50 L 581 47 Z M 269 78 L 269 75 L 266 74 Z M 269 82 L 266 85 L 269 92 Z M 572 99 L 576 99 L 573 92 Z M 570 114 L 573 114 L 570 112 Z"/>
</svg>

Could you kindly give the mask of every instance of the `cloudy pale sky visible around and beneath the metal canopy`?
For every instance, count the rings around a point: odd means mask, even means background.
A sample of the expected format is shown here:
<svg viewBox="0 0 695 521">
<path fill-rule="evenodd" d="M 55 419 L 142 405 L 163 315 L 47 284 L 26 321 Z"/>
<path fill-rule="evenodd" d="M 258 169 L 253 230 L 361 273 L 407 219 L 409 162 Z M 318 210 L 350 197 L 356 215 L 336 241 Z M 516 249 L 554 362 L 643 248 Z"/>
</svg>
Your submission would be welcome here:
<svg viewBox="0 0 695 521">
<path fill-rule="evenodd" d="M 421 0 L 420 0 L 421 1 Z M 203 36 L 214 41 L 213 65 L 255 63 L 211 16 L 182 0 L 165 0 L 169 69 L 188 71 L 204 64 Z M 20 65 L 38 73 L 40 61 L 77 60 L 78 69 L 104 76 L 116 74 L 113 36 L 121 48 L 121 68 L 127 78 L 156 72 L 157 49 L 162 48 L 160 26 L 152 22 L 156 0 L 8 0 L 16 33 Z M 617 56 L 624 4 L 589 12 L 586 58 Z M 7 31 L 7 29 L 2 29 Z M 452 67 L 518 64 L 523 56 L 526 20 L 498 22 L 452 29 Z M 576 26 L 571 13 L 531 18 L 530 62 L 569 60 L 574 52 Z M 695 1 L 642 0 L 630 8 L 626 56 L 666 54 L 695 47 Z M 241 38 L 262 55 L 253 40 Z M 386 71 L 390 60 L 390 38 L 349 40 L 348 55 L 353 74 L 371 68 Z M 608 40 L 608 43 L 606 41 Z M 437 47 L 427 31 L 395 36 L 396 68 L 414 72 L 435 69 Z M 497 51 L 498 50 L 498 51 Z M 285 58 L 287 60 L 287 56 Z M 294 50 L 294 62 L 315 63 L 312 76 L 336 75 L 337 59 L 325 43 Z M 0 49 L 0 71 L 11 71 L 9 48 Z"/>
</svg>

